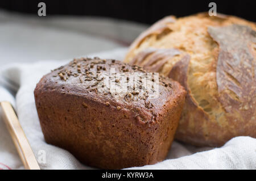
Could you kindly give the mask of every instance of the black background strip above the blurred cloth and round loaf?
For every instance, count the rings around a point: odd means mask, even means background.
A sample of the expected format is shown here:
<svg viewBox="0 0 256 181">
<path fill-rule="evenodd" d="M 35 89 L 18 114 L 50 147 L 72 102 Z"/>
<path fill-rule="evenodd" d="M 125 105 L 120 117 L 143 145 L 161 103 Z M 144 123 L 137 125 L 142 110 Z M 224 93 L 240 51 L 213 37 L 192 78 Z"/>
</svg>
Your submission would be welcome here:
<svg viewBox="0 0 256 181">
<path fill-rule="evenodd" d="M 126 19 L 135 22 L 152 24 L 166 15 L 185 16 L 197 12 L 208 11 L 209 2 L 217 4 L 217 12 L 240 16 L 256 21 L 256 1 L 183 1 L 183 0 L 90 0 L 90 1 L 60 1 L 60 0 L 0 0 L 0 8 L 8 11 L 18 11 L 26 14 L 38 14 L 38 3 L 46 3 L 46 14 L 50 15 L 90 15 L 107 16 Z"/>
</svg>

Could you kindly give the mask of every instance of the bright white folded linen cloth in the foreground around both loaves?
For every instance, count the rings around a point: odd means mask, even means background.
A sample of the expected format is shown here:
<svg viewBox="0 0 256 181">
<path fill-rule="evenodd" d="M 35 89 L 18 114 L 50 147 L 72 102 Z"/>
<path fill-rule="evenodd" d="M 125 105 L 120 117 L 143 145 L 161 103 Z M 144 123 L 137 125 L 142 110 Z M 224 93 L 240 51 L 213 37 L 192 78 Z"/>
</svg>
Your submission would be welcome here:
<svg viewBox="0 0 256 181">
<path fill-rule="evenodd" d="M 90 54 L 89 57 L 123 60 L 126 49 Z M 36 112 L 34 89 L 44 74 L 71 60 L 41 61 L 34 64 L 11 64 L 0 70 L 0 77 L 15 83 L 16 97 L 8 86 L 0 87 L 0 101 L 10 101 L 18 114 L 41 169 L 93 169 L 83 165 L 67 150 L 44 141 Z M 1 84 L 0 84 L 1 85 Z M 42 159 L 42 156 L 43 157 Z M 0 169 L 24 169 L 7 129 L 0 119 Z M 256 169 L 256 139 L 236 137 L 221 148 L 197 148 L 174 142 L 165 161 L 130 169 Z"/>
</svg>

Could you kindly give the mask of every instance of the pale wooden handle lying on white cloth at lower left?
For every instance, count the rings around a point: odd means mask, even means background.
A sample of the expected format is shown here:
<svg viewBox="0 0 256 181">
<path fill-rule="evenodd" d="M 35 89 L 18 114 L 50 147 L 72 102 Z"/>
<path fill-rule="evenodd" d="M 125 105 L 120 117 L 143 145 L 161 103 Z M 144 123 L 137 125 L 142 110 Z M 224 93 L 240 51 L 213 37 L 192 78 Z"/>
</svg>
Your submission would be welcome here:
<svg viewBox="0 0 256 181">
<path fill-rule="evenodd" d="M 18 117 L 9 102 L 1 102 L 2 116 L 5 120 L 8 131 L 13 138 L 19 157 L 22 159 L 25 169 L 40 170 L 35 155 L 27 141 L 22 127 L 19 124 Z"/>
</svg>

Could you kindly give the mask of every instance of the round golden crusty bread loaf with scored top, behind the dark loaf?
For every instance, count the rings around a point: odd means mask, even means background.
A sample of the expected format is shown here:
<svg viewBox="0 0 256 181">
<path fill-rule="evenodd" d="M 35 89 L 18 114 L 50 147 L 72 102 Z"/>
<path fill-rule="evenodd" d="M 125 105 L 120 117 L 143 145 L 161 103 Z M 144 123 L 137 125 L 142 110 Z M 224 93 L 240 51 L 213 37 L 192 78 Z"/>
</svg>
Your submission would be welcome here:
<svg viewBox="0 0 256 181">
<path fill-rule="evenodd" d="M 221 146 L 256 137 L 256 25 L 207 13 L 167 16 L 143 32 L 125 62 L 159 72 L 187 90 L 177 140 Z"/>
</svg>

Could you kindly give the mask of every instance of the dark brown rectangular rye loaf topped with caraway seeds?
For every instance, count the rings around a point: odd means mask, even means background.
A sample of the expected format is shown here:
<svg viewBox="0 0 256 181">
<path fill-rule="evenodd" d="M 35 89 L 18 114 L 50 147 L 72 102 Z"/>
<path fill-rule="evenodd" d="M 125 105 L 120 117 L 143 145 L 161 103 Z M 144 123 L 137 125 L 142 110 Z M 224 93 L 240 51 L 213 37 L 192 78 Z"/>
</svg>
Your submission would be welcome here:
<svg viewBox="0 0 256 181">
<path fill-rule="evenodd" d="M 110 68 L 115 70 L 114 78 Z M 44 75 L 34 94 L 46 142 L 102 169 L 162 161 L 174 139 L 186 92 L 179 83 L 163 77 L 159 82 L 150 79 L 158 82 L 157 98 L 141 91 L 141 80 L 140 91 L 133 87 L 126 92 L 109 90 L 121 82 L 117 73 L 129 82 L 135 72 L 145 73 L 138 66 L 96 57 L 75 59 Z M 109 75 L 111 87 L 105 85 L 102 74 Z"/>
</svg>

